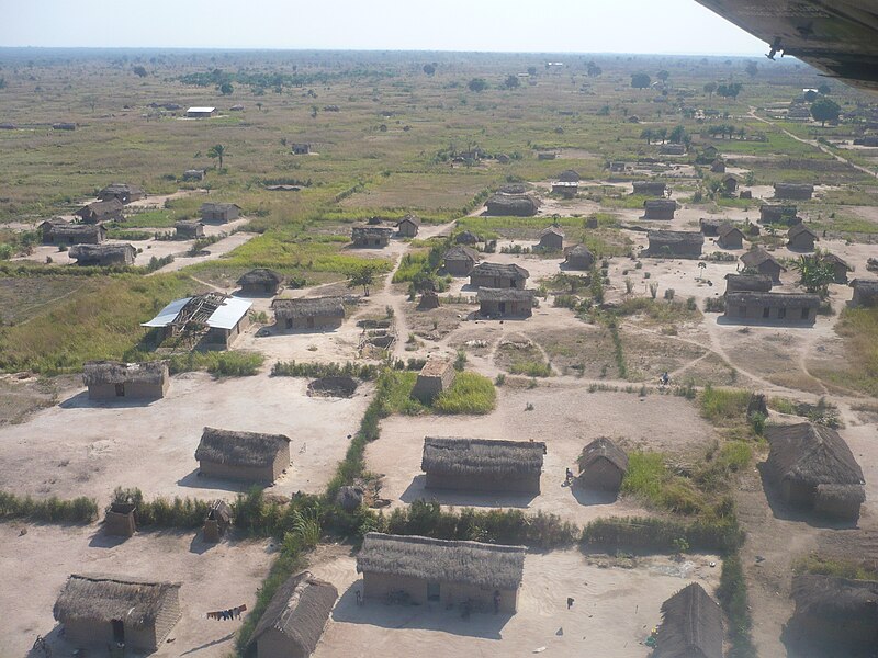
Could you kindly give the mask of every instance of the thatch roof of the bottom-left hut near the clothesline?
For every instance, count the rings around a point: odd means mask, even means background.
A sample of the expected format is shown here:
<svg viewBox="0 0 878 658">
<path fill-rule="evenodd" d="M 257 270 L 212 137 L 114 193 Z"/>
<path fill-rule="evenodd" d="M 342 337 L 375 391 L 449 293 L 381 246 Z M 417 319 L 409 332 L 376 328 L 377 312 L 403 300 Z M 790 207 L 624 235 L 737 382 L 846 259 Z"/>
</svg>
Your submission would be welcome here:
<svg viewBox="0 0 878 658">
<path fill-rule="evenodd" d="M 122 620 L 126 624 L 148 626 L 155 624 L 166 595 L 179 589 L 179 582 L 74 574 L 58 595 L 53 612 L 63 624 L 75 620 L 108 624 Z"/>
</svg>

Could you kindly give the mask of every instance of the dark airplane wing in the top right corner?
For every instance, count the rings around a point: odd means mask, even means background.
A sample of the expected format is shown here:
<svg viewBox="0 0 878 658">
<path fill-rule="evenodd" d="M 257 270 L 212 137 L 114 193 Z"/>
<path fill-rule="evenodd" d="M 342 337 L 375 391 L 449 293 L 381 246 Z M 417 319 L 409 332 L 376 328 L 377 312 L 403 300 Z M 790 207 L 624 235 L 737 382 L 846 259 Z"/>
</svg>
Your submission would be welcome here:
<svg viewBox="0 0 878 658">
<path fill-rule="evenodd" d="M 854 87 L 878 92 L 878 0 L 697 0 L 765 41 Z"/>
</svg>

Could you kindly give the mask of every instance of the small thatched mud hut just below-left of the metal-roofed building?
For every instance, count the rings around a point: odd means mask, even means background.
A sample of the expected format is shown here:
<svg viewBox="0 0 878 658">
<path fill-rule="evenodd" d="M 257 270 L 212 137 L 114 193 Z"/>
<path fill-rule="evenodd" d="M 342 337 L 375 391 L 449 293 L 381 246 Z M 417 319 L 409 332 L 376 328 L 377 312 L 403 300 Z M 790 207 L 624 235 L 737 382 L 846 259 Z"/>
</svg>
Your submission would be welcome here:
<svg viewBox="0 0 878 658">
<path fill-rule="evenodd" d="M 168 393 L 170 376 L 165 361 L 89 361 L 82 366 L 82 382 L 89 389 L 91 400 L 153 400 Z"/>
</svg>

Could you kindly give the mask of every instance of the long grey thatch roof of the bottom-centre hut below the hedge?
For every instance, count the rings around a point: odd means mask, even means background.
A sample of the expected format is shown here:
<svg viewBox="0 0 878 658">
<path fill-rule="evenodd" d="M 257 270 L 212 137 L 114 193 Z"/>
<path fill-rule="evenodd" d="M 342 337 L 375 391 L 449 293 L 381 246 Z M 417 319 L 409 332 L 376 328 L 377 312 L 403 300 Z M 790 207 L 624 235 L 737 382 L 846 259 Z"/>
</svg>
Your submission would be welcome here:
<svg viewBox="0 0 878 658">
<path fill-rule="evenodd" d="M 524 546 L 370 532 L 357 571 L 515 590 L 521 585 L 525 552 Z"/>
</svg>

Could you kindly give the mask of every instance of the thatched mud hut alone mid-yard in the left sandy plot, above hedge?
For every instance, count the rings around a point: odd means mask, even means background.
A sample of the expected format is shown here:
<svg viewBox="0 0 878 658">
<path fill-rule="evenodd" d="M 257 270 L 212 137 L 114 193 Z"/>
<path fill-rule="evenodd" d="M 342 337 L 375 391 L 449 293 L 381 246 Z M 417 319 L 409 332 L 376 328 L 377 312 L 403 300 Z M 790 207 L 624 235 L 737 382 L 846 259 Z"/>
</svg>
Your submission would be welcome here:
<svg viewBox="0 0 878 658">
<path fill-rule="evenodd" d="M 290 466 L 290 438 L 204 428 L 195 458 L 199 475 L 271 484 Z"/>
</svg>

